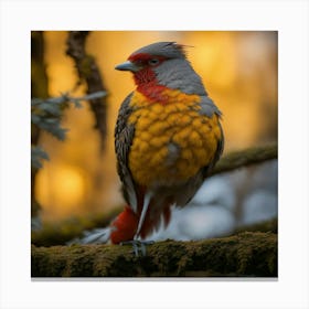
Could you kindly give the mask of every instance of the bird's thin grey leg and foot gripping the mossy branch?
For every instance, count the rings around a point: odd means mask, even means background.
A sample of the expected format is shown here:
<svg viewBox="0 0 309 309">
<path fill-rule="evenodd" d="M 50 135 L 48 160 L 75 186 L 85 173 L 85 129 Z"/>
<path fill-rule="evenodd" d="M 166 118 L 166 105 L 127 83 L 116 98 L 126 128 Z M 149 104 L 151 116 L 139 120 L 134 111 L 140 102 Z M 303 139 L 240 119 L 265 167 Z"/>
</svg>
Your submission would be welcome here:
<svg viewBox="0 0 309 309">
<path fill-rule="evenodd" d="M 138 227 L 137 227 L 134 239 L 120 243 L 120 245 L 128 245 L 128 244 L 132 245 L 134 253 L 135 253 L 136 256 L 138 256 L 139 252 L 141 252 L 141 254 L 145 256 L 146 255 L 146 245 L 153 244 L 152 241 L 147 242 L 147 241 L 138 239 L 139 233 L 140 233 L 141 227 L 142 227 L 142 224 L 143 224 L 143 221 L 145 221 L 145 217 L 146 217 L 146 214 L 147 214 L 147 211 L 148 211 L 148 206 L 150 204 L 150 200 L 151 200 L 152 195 L 153 195 L 152 192 L 147 192 L 145 194 L 143 204 L 142 204 L 142 209 L 141 209 L 141 214 L 140 214 L 140 219 L 139 219 L 139 222 L 138 222 Z"/>
</svg>

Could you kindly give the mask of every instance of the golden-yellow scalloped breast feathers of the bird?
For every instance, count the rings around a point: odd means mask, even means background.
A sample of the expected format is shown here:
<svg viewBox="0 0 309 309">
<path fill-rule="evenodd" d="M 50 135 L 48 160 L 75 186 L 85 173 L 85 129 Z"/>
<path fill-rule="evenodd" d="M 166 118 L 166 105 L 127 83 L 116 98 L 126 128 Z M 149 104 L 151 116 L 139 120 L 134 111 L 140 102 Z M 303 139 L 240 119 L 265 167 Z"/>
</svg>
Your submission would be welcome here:
<svg viewBox="0 0 309 309">
<path fill-rule="evenodd" d="M 202 115 L 201 97 L 167 90 L 168 104 L 149 103 L 135 92 L 129 124 L 135 138 L 129 168 L 140 185 L 177 185 L 185 182 L 214 159 L 222 138 L 219 116 Z"/>
</svg>

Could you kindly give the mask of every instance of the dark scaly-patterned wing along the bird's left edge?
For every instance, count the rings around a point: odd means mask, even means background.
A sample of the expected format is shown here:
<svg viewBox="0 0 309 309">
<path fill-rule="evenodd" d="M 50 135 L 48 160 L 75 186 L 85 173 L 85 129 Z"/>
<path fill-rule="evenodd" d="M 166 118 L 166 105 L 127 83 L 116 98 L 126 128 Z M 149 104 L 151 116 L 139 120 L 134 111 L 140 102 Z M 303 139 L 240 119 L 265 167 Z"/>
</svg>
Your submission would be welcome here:
<svg viewBox="0 0 309 309">
<path fill-rule="evenodd" d="M 132 143 L 135 127 L 128 124 L 128 118 L 132 113 L 129 106 L 132 93 L 129 94 L 118 113 L 115 127 L 115 151 L 117 157 L 117 171 L 122 182 L 122 193 L 126 202 L 137 212 L 137 195 L 135 183 L 129 170 L 129 151 Z"/>
</svg>

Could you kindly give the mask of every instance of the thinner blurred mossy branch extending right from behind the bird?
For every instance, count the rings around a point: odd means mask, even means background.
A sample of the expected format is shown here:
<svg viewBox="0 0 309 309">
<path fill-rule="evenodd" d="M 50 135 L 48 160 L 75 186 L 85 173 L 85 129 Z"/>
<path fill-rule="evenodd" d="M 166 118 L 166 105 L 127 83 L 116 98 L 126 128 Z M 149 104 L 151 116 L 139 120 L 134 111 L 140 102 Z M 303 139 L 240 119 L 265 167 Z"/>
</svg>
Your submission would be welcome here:
<svg viewBox="0 0 309 309">
<path fill-rule="evenodd" d="M 262 163 L 278 158 L 277 143 L 252 147 L 230 152 L 221 158 L 210 175 L 228 172 L 249 164 Z"/>
</svg>

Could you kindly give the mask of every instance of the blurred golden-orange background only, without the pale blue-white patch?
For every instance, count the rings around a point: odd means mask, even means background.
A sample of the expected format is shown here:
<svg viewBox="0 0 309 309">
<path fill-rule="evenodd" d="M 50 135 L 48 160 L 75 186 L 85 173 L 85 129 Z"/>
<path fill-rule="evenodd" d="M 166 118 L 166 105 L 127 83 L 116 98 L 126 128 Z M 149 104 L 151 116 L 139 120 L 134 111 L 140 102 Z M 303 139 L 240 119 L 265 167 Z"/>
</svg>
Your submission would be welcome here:
<svg viewBox="0 0 309 309">
<path fill-rule="evenodd" d="M 44 32 L 50 96 L 74 89 L 73 60 L 66 55 L 67 32 Z M 189 45 L 188 57 L 210 97 L 223 111 L 225 151 L 277 140 L 278 51 L 273 31 L 93 31 L 87 53 L 95 57 L 108 90 L 106 151 L 87 104 L 65 111 L 65 141 L 49 134 L 40 146 L 49 153 L 39 171 L 35 196 L 43 221 L 108 211 L 124 203 L 116 172 L 114 126 L 122 99 L 134 89 L 129 73 L 115 71 L 135 50 L 157 42 Z M 192 47 L 191 47 L 192 46 Z M 84 95 L 83 89 L 74 96 Z"/>
</svg>

